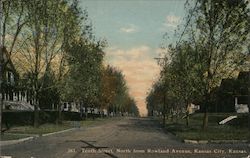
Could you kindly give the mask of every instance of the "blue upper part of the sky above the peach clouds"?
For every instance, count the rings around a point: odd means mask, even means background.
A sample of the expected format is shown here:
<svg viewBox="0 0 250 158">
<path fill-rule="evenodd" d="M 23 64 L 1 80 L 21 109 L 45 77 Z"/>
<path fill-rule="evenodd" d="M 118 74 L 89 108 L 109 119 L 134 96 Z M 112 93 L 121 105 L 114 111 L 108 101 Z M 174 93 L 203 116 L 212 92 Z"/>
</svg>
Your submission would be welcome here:
<svg viewBox="0 0 250 158">
<path fill-rule="evenodd" d="M 120 48 L 142 44 L 159 47 L 163 34 L 175 29 L 166 26 L 166 17 L 182 18 L 184 3 L 185 0 L 81 0 L 96 36 L 105 37 L 110 46 Z"/>
</svg>

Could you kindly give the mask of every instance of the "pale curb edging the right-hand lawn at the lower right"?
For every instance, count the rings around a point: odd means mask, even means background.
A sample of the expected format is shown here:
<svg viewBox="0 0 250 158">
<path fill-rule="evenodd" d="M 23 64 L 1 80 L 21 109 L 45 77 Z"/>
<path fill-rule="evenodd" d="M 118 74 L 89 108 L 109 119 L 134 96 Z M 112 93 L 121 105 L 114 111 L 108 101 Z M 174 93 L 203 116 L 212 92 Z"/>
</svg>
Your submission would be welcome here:
<svg viewBox="0 0 250 158">
<path fill-rule="evenodd" d="M 186 144 L 237 144 L 237 143 L 249 143 L 248 140 L 190 140 L 184 139 Z"/>
</svg>

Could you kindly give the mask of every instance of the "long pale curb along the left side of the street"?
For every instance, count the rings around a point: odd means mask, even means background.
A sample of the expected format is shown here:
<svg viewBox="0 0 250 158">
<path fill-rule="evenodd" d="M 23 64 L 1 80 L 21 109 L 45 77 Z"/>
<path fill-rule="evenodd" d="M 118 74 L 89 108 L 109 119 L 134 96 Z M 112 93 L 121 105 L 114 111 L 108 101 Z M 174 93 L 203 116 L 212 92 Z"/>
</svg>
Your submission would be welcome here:
<svg viewBox="0 0 250 158">
<path fill-rule="evenodd" d="M 60 133 L 65 133 L 68 131 L 73 131 L 76 130 L 77 128 L 70 128 L 70 129 L 66 129 L 66 130 L 62 130 L 62 131 L 57 131 L 57 132 L 52 132 L 52 133 L 46 133 L 46 134 L 42 134 L 42 135 L 34 135 L 31 137 L 26 137 L 26 138 L 21 138 L 21 139 L 16 139 L 16 140 L 6 140 L 6 141 L 0 141 L 0 147 L 1 146 L 7 146 L 7 145 L 13 145 L 13 144 L 19 144 L 19 143 L 23 143 L 29 140 L 33 140 L 35 138 L 38 137 L 46 137 L 46 136 L 50 136 L 50 135 L 55 135 L 55 134 L 60 134 Z"/>
</svg>

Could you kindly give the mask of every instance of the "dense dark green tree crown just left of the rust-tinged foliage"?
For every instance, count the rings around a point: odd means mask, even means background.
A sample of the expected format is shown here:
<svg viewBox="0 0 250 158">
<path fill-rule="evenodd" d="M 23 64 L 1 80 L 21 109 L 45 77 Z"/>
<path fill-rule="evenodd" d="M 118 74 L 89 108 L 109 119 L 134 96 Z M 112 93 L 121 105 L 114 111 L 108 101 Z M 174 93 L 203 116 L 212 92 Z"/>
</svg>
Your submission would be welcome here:
<svg viewBox="0 0 250 158">
<path fill-rule="evenodd" d="M 84 102 L 95 107 L 99 103 L 104 43 L 82 37 L 67 49 L 69 73 L 63 87 L 63 99 Z"/>
</svg>

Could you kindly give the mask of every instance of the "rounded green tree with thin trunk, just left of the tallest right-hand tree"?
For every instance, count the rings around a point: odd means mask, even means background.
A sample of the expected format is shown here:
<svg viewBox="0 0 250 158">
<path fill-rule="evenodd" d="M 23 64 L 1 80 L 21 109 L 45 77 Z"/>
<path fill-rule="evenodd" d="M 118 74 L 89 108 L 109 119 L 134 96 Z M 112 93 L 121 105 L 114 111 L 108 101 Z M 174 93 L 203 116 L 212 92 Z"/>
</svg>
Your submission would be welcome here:
<svg viewBox="0 0 250 158">
<path fill-rule="evenodd" d="M 172 56 L 169 65 L 165 65 L 163 75 L 170 84 L 172 98 L 181 100 L 187 109 L 191 103 L 201 102 L 203 65 L 197 63 L 199 56 L 191 44 L 183 42 L 176 48 L 169 46 Z M 164 73 L 165 72 L 165 73 Z M 186 124 L 189 125 L 189 113 L 186 111 Z"/>
</svg>

